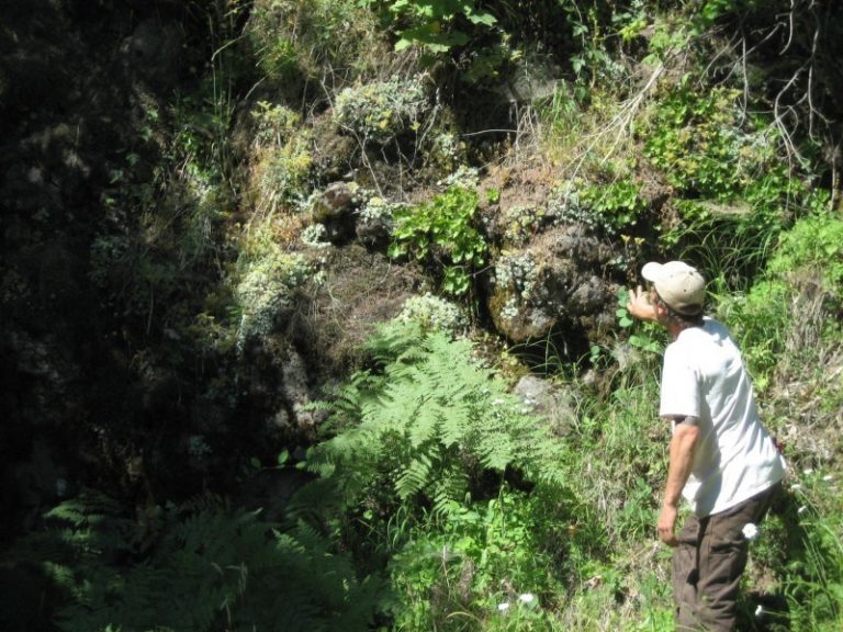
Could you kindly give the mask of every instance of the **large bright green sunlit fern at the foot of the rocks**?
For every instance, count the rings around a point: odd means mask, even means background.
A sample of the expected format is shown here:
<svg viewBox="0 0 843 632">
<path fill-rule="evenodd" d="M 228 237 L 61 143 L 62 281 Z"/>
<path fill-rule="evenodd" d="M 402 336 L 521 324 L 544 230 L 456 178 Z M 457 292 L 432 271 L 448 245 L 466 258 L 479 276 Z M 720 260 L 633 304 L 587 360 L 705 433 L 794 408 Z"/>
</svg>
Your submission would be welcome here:
<svg viewBox="0 0 843 632">
<path fill-rule="evenodd" d="M 394 323 L 368 347 L 378 370 L 339 390 L 333 410 L 357 421 L 308 462 L 352 493 L 349 507 L 367 495 L 383 498 L 385 486 L 401 503 L 420 495 L 446 507 L 464 500 L 465 481 L 482 470 L 517 469 L 537 483 L 564 485 L 565 447 L 520 411 L 506 384 L 474 360 L 470 341 Z"/>
</svg>

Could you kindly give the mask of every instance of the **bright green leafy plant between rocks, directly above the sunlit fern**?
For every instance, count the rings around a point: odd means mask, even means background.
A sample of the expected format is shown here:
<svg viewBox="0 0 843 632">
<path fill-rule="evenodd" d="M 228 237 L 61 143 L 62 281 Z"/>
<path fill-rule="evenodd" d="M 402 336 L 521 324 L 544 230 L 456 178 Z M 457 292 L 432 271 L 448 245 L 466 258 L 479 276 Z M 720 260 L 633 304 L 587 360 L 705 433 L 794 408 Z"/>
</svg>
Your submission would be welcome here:
<svg viewBox="0 0 843 632">
<path fill-rule="evenodd" d="M 476 191 L 460 187 L 419 206 L 397 210 L 390 257 L 409 255 L 426 263 L 442 264 L 442 289 L 449 294 L 465 294 L 471 274 L 486 255 L 486 242 L 472 225 L 476 211 Z"/>
</svg>

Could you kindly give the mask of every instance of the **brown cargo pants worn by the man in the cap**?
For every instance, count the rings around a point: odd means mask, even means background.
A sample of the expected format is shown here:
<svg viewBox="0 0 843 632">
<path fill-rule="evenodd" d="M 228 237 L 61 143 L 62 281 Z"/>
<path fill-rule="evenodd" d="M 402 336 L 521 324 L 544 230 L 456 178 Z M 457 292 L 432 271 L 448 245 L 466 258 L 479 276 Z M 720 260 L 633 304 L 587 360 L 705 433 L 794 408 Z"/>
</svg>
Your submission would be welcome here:
<svg viewBox="0 0 843 632">
<path fill-rule="evenodd" d="M 738 589 L 750 549 L 743 527 L 760 524 L 780 489 L 776 483 L 726 511 L 687 519 L 673 550 L 676 630 L 734 629 Z"/>
</svg>

